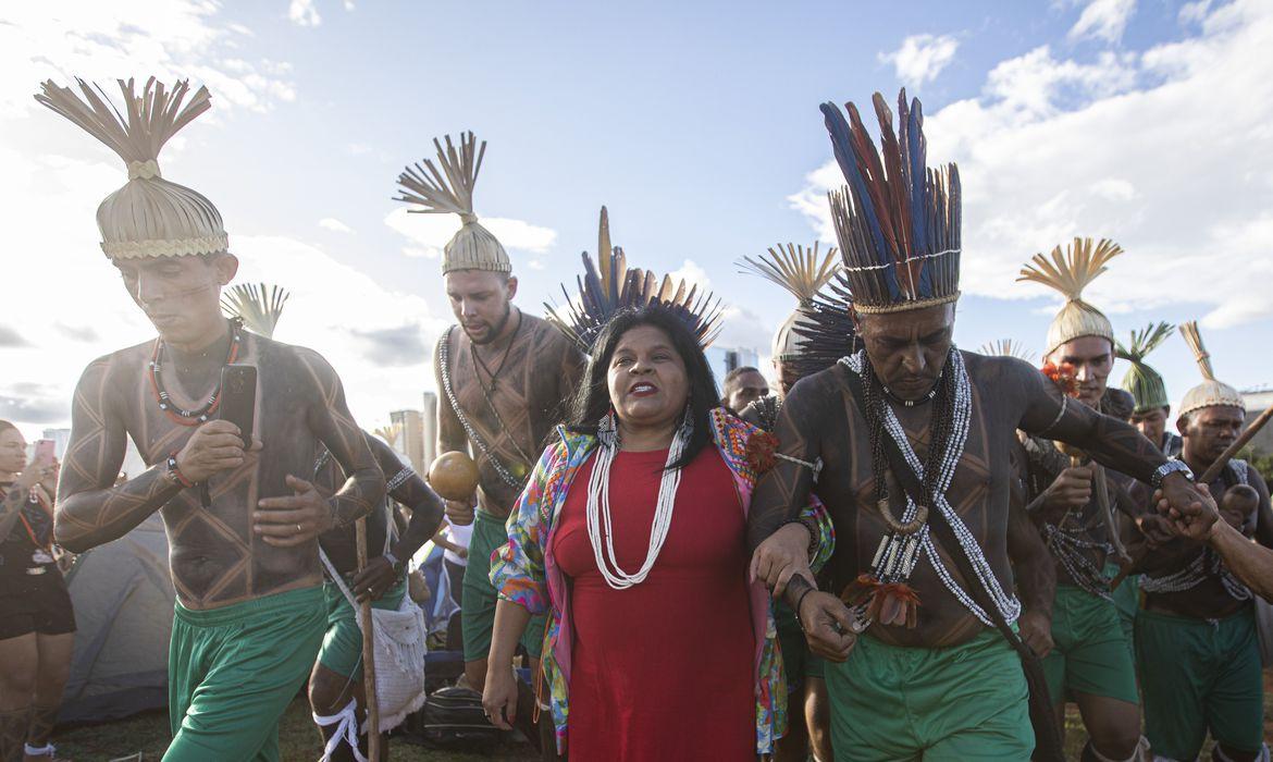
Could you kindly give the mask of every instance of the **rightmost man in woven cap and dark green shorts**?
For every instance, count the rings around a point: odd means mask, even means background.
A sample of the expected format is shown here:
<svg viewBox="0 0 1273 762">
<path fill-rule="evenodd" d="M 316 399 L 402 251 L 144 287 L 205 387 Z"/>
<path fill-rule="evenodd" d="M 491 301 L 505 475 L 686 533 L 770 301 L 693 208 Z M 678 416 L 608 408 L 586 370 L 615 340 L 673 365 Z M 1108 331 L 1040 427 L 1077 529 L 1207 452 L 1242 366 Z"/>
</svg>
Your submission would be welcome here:
<svg viewBox="0 0 1273 762">
<path fill-rule="evenodd" d="M 1180 334 L 1203 381 L 1180 400 L 1176 429 L 1184 446 L 1176 457 L 1207 473 L 1241 435 L 1246 404 L 1216 378 L 1198 324 L 1181 324 Z M 1220 502 L 1216 524 L 1273 548 L 1269 489 L 1259 471 L 1235 457 L 1207 487 Z M 1143 485 L 1134 496 L 1152 500 Z M 1143 668 L 1144 733 L 1156 758 L 1194 759 L 1209 734 L 1216 740 L 1212 759 L 1267 762 L 1260 666 L 1269 633 L 1268 617 L 1260 623 L 1256 610 L 1264 607 L 1268 614 L 1269 601 L 1258 600 L 1207 539 L 1158 543 L 1139 564 L 1144 605 L 1137 612 L 1136 651 Z"/>
</svg>

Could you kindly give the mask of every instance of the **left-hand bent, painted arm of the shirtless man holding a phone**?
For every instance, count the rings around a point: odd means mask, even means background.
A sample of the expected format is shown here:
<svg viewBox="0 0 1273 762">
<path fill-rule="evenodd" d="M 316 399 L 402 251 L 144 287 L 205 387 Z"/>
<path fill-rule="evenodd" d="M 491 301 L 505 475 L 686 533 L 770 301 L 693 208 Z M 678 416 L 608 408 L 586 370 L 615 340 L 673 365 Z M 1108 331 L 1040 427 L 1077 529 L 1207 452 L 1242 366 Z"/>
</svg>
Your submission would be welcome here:
<svg viewBox="0 0 1273 762">
<path fill-rule="evenodd" d="M 84 371 L 71 401 L 71 438 L 57 485 L 53 536 L 73 553 L 123 536 L 182 489 L 168 479 L 165 464 L 115 484 L 127 432 L 111 408 L 108 362 L 94 361 Z"/>
</svg>

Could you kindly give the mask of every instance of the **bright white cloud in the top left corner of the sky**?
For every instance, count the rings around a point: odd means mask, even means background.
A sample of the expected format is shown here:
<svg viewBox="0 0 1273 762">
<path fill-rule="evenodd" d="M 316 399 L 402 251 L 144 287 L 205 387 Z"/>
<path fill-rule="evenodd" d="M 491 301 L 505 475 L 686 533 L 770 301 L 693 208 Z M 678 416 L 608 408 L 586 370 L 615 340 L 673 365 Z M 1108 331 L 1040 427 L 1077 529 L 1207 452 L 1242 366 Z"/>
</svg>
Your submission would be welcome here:
<svg viewBox="0 0 1273 762">
<path fill-rule="evenodd" d="M 52 78 L 103 84 L 120 73 L 145 71 L 172 82 L 188 76 L 213 90 L 218 110 L 266 111 L 295 99 L 289 68 L 232 55 L 242 28 L 219 23 L 215 3 L 201 0 L 55 0 L 10 3 L 0 19 L 0 117 L 39 108 L 32 94 Z M 207 119 L 207 117 L 205 117 Z"/>
</svg>

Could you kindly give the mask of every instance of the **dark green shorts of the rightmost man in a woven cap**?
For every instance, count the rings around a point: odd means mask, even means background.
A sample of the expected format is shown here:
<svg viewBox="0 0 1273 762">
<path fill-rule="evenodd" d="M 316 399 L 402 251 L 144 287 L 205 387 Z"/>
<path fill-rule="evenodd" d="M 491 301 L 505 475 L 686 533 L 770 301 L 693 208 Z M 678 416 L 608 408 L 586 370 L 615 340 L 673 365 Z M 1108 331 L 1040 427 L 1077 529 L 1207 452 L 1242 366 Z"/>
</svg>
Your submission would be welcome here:
<svg viewBox="0 0 1273 762">
<path fill-rule="evenodd" d="M 1207 731 L 1237 752 L 1264 740 L 1264 683 L 1251 607 L 1223 619 L 1136 618 L 1144 734 L 1156 754 L 1193 759 Z"/>
</svg>

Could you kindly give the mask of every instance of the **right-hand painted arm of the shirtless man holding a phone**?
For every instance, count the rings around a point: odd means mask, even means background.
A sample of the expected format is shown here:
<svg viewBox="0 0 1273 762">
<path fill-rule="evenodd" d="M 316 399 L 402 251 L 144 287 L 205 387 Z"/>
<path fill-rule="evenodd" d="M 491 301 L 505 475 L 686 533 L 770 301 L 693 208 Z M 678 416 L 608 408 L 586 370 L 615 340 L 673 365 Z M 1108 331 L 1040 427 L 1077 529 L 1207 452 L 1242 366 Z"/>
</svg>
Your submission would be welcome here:
<svg viewBox="0 0 1273 762">
<path fill-rule="evenodd" d="M 367 446 L 363 429 L 349 414 L 336 371 L 314 352 L 299 352 L 299 361 L 318 394 L 309 408 L 309 429 L 346 474 L 341 488 L 327 498 L 334 526 L 345 526 L 372 512 L 384 497 L 384 475 Z"/>
</svg>

